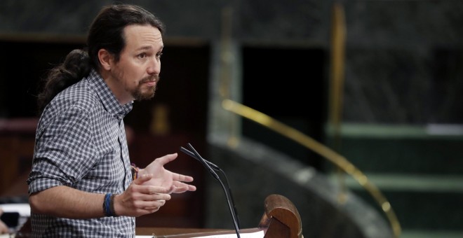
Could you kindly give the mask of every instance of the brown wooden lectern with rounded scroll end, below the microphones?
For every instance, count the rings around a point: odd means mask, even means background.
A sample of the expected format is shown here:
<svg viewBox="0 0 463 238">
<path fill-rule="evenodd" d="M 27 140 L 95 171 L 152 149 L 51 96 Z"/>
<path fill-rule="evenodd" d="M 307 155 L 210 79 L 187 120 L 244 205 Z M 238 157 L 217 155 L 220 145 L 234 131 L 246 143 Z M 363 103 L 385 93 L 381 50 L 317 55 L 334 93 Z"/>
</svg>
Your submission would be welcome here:
<svg viewBox="0 0 463 238">
<path fill-rule="evenodd" d="M 269 195 L 264 201 L 264 214 L 257 228 L 241 229 L 240 234 L 264 231 L 264 238 L 303 238 L 302 222 L 293 202 L 282 195 Z M 16 237 L 32 237 L 30 221 L 22 226 Z M 208 235 L 235 234 L 235 230 L 208 228 L 136 228 L 136 235 L 156 238 L 189 238 Z"/>
</svg>

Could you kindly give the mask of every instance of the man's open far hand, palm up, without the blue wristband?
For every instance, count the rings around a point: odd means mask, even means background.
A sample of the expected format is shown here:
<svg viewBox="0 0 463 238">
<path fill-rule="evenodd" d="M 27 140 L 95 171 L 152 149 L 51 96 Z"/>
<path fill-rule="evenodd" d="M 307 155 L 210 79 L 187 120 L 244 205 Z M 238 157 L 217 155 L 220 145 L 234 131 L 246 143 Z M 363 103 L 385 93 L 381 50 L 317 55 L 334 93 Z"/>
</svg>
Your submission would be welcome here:
<svg viewBox="0 0 463 238">
<path fill-rule="evenodd" d="M 143 185 L 168 188 L 169 193 L 184 193 L 186 191 L 196 190 L 195 186 L 184 183 L 192 182 L 192 176 L 173 173 L 164 168 L 164 165 L 175 160 L 175 158 L 177 158 L 177 153 L 164 155 L 161 158 L 156 158 L 156 160 L 151 162 L 145 169 L 140 169 L 138 172 L 139 176 L 143 174 L 153 175 L 152 179 L 149 179 L 149 181 L 146 181 Z"/>
</svg>

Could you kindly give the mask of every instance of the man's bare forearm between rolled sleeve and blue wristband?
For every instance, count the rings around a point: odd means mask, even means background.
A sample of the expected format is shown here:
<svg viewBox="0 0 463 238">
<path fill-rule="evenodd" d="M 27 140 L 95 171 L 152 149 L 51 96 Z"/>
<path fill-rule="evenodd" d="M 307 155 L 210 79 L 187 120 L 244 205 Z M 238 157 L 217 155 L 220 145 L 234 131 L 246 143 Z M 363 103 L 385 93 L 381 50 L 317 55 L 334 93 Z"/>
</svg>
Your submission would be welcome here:
<svg viewBox="0 0 463 238">
<path fill-rule="evenodd" d="M 100 218 L 105 194 L 87 193 L 67 186 L 48 188 L 29 196 L 32 212 L 62 218 Z"/>
</svg>

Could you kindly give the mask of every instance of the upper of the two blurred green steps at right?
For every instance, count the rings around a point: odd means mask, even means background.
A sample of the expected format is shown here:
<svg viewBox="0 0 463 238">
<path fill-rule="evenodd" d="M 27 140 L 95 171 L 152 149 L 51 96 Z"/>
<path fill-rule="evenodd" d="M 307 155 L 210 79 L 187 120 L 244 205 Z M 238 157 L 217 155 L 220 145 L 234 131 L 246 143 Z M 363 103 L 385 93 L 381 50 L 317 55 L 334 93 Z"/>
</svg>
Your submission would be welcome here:
<svg viewBox="0 0 463 238">
<path fill-rule="evenodd" d="M 340 141 L 335 151 L 363 172 L 463 175 L 461 125 L 345 124 Z"/>
</svg>

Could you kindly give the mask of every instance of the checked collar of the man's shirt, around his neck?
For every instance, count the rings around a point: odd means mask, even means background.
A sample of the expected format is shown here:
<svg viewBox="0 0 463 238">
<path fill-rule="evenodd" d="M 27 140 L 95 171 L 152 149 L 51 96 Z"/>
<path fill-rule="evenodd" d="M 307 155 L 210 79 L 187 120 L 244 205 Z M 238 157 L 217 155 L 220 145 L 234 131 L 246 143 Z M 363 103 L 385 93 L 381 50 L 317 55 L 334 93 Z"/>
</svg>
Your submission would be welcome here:
<svg viewBox="0 0 463 238">
<path fill-rule="evenodd" d="M 97 92 L 98 97 L 100 97 L 100 101 L 102 102 L 106 111 L 111 113 L 114 117 L 122 120 L 122 118 L 132 110 L 133 101 L 128 102 L 127 104 L 120 104 L 116 99 L 116 96 L 112 93 L 111 89 L 109 89 L 105 80 L 103 80 L 103 78 L 99 73 L 97 73 L 97 71 L 95 71 L 95 69 L 90 71 L 88 80 L 90 83 L 95 85 L 95 91 Z"/>
</svg>

